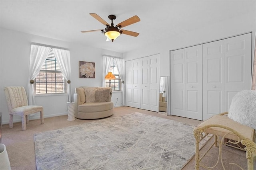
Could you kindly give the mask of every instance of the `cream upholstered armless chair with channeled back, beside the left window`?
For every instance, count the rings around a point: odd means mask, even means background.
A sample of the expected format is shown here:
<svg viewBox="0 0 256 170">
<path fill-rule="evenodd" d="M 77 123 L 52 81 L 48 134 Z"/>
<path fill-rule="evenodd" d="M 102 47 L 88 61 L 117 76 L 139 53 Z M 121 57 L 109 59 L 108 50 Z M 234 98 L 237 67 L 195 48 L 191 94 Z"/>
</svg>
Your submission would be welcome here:
<svg viewBox="0 0 256 170">
<path fill-rule="evenodd" d="M 28 115 L 40 112 L 41 124 L 44 124 L 44 112 L 42 106 L 28 106 L 28 98 L 25 88 L 22 86 L 10 86 L 4 88 L 4 94 L 9 110 L 9 127 L 13 127 L 13 115 L 21 116 L 22 130 L 26 130 Z"/>
</svg>

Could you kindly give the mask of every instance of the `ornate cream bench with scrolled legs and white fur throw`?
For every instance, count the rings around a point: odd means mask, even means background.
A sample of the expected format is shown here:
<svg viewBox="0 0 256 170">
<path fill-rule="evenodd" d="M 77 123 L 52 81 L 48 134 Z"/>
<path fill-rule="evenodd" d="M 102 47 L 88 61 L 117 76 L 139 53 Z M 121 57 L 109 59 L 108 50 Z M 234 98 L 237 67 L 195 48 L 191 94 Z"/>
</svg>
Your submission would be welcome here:
<svg viewBox="0 0 256 170">
<path fill-rule="evenodd" d="M 254 160 L 256 157 L 256 143 L 255 143 L 255 129 L 256 129 L 256 91 L 243 90 L 238 92 L 233 98 L 228 112 L 214 115 L 210 119 L 202 122 L 194 128 L 194 137 L 196 139 L 195 148 L 195 169 L 199 166 L 211 169 L 214 168 L 218 162 L 221 162 L 223 169 L 224 163 L 222 160 L 222 145 L 236 147 L 246 151 L 247 169 L 255 170 Z M 210 135 L 212 134 L 212 135 Z M 214 137 L 215 141 L 211 147 L 199 157 L 199 143 L 204 137 Z M 219 157 L 215 166 L 208 167 L 201 163 L 202 158 L 209 154 L 209 150 L 213 147 L 219 147 Z M 239 165 L 234 164 L 237 169 Z"/>
</svg>

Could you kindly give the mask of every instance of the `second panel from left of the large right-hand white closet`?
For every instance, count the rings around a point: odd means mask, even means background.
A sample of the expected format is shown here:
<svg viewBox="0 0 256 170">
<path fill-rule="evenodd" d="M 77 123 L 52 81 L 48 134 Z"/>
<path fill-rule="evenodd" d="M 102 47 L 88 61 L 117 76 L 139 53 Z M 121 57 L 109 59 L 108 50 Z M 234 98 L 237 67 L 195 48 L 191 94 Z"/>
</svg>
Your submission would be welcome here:
<svg viewBox="0 0 256 170">
<path fill-rule="evenodd" d="M 202 45 L 185 49 L 185 117 L 202 120 Z"/>
</svg>

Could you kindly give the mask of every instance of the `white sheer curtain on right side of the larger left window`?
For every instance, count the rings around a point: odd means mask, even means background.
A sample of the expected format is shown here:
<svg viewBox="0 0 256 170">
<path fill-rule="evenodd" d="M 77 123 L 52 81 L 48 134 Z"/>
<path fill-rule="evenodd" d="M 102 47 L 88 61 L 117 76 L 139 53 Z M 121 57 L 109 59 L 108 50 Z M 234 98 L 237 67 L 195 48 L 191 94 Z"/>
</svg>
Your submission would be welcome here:
<svg viewBox="0 0 256 170">
<path fill-rule="evenodd" d="M 64 49 L 55 49 L 52 48 L 60 66 L 60 70 L 64 75 L 64 78 L 68 80 L 68 102 L 73 101 L 71 94 L 71 67 L 70 67 L 70 52 L 69 50 Z"/>
</svg>

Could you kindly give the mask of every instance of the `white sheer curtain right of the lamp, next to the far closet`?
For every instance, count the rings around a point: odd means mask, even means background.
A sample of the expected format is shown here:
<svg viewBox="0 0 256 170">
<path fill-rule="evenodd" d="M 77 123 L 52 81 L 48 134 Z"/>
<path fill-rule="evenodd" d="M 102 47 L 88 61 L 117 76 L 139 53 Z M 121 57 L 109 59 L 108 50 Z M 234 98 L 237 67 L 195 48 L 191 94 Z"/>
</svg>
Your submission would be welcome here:
<svg viewBox="0 0 256 170">
<path fill-rule="evenodd" d="M 119 76 L 121 78 L 121 81 L 124 82 L 125 79 L 125 64 L 124 64 L 124 59 L 114 59 L 116 62 L 116 67 L 119 72 Z M 122 83 L 122 104 L 125 105 L 125 96 L 124 96 L 124 83 Z"/>
</svg>

